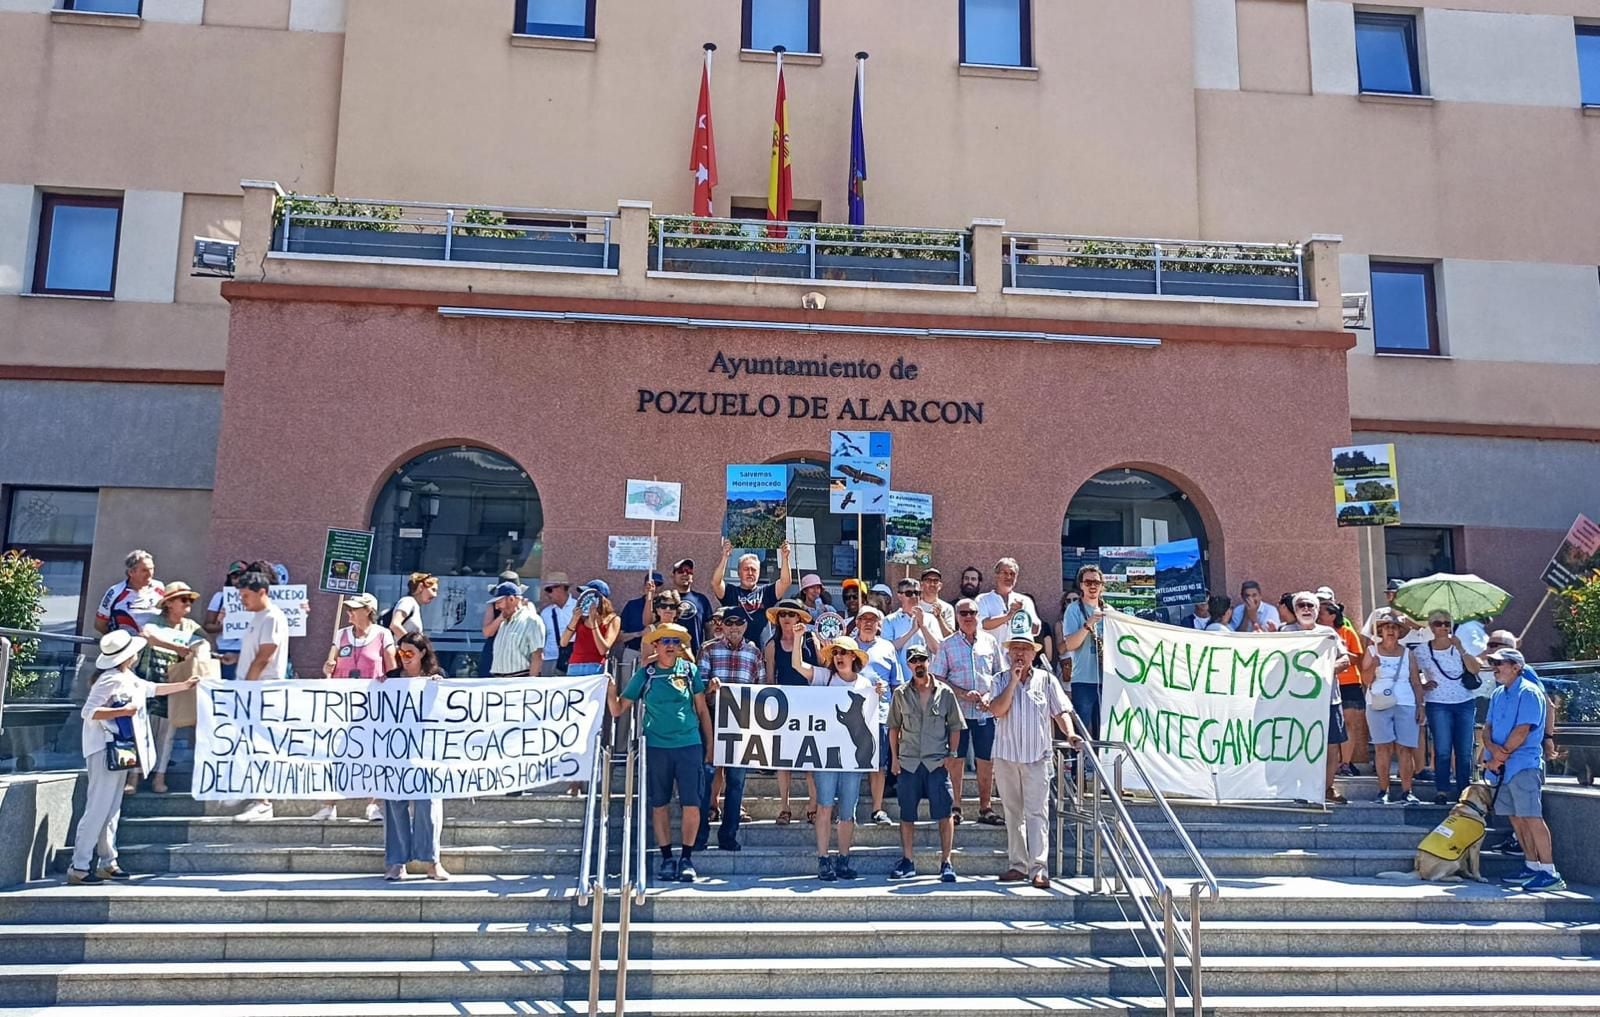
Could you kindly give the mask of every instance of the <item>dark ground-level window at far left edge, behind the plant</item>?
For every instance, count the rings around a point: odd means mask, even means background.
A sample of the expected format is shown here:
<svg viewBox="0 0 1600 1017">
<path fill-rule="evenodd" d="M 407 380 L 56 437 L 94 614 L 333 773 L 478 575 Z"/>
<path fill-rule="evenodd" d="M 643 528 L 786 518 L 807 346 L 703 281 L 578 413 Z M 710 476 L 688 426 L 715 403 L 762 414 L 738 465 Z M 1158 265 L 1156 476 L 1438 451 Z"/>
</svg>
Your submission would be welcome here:
<svg viewBox="0 0 1600 1017">
<path fill-rule="evenodd" d="M 5 502 L 3 550 L 21 550 L 40 561 L 45 577 L 45 616 L 40 632 L 82 635 L 88 598 L 90 552 L 94 545 L 94 491 L 13 488 Z M 38 654 L 22 672 L 27 699 L 62 699 L 72 692 L 78 646 L 40 640 Z M 13 675 L 16 684 L 16 675 Z"/>
</svg>

